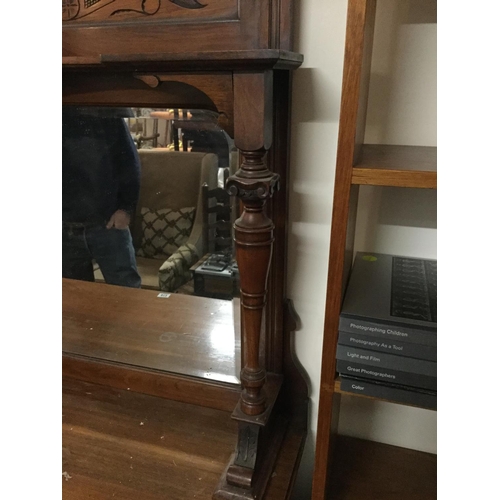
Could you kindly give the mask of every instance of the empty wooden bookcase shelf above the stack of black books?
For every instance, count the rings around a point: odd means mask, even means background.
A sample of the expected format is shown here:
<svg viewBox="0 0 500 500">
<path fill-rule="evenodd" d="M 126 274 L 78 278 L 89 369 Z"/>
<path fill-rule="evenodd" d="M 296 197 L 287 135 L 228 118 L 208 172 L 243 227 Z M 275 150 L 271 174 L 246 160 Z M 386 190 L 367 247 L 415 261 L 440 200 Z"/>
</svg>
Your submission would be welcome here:
<svg viewBox="0 0 500 500">
<path fill-rule="evenodd" d="M 437 148 L 365 144 L 354 165 L 352 184 L 437 187 Z"/>
</svg>

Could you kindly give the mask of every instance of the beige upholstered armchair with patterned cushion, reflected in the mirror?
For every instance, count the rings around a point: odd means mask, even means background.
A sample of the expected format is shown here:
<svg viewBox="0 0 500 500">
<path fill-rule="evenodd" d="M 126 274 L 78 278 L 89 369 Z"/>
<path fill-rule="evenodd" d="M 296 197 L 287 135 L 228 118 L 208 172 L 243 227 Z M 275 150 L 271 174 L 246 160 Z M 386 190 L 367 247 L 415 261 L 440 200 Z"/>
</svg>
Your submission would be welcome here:
<svg viewBox="0 0 500 500">
<path fill-rule="evenodd" d="M 202 186 L 217 186 L 217 156 L 140 149 L 141 190 L 132 221 L 144 288 L 173 292 L 203 255 Z"/>
</svg>

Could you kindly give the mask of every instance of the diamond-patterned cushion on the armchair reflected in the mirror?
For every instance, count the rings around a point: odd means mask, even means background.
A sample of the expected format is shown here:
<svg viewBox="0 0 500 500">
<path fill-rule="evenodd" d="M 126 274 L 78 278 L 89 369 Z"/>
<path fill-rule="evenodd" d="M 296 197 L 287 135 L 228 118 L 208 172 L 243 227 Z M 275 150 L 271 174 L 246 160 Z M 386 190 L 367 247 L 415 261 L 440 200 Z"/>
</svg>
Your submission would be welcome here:
<svg viewBox="0 0 500 500">
<path fill-rule="evenodd" d="M 176 252 L 189 238 L 195 211 L 195 207 L 178 210 L 142 207 L 142 242 L 137 255 L 163 259 Z"/>
</svg>

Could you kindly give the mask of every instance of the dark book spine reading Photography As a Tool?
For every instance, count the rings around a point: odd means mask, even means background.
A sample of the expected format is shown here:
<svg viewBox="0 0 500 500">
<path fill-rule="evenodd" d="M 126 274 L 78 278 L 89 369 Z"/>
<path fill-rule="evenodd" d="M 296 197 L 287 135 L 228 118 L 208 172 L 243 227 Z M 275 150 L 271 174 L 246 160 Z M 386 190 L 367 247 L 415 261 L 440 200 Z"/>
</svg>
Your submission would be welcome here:
<svg viewBox="0 0 500 500">
<path fill-rule="evenodd" d="M 437 361 L 437 349 L 433 346 L 411 344 L 397 339 L 370 337 L 358 333 L 339 332 L 339 344 L 368 349 L 370 351 L 397 354 L 409 358 Z"/>
</svg>

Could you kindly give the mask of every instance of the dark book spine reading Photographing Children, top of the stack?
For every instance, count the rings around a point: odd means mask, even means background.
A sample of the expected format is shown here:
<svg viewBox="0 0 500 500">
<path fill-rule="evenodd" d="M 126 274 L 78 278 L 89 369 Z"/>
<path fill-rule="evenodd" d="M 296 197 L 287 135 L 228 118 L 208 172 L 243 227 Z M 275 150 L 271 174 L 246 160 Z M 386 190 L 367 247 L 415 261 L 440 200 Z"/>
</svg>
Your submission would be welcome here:
<svg viewBox="0 0 500 500">
<path fill-rule="evenodd" d="M 402 340 L 411 344 L 437 346 L 437 333 L 432 331 L 416 330 L 401 325 L 388 325 L 375 321 L 365 321 L 349 316 L 340 315 L 339 331 L 360 333 L 370 337 L 389 340 Z"/>
</svg>

